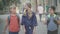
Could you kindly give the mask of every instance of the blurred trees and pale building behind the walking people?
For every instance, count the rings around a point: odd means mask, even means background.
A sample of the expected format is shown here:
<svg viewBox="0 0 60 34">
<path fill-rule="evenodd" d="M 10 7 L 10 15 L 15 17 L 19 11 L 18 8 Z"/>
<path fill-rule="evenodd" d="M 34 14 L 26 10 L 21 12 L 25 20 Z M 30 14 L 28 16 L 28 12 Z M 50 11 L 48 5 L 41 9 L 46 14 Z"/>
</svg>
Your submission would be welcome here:
<svg viewBox="0 0 60 34">
<path fill-rule="evenodd" d="M 57 8 L 56 13 L 59 13 L 60 0 L 0 0 L 0 14 L 8 14 L 8 8 L 11 4 L 16 4 L 16 6 L 19 8 L 19 13 L 21 13 L 23 4 L 25 2 L 31 2 L 32 8 L 35 12 L 37 12 L 35 10 L 37 5 L 42 4 L 46 12 L 48 8 L 53 5 Z"/>
</svg>

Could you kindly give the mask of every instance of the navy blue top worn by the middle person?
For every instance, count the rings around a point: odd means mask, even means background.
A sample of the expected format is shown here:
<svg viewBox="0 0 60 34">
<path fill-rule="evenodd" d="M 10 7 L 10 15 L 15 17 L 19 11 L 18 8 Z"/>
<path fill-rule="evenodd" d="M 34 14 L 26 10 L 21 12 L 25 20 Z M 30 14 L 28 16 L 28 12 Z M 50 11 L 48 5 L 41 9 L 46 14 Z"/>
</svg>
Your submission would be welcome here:
<svg viewBox="0 0 60 34">
<path fill-rule="evenodd" d="M 35 13 L 32 13 L 32 17 L 29 19 L 28 16 L 22 16 L 22 25 L 25 26 L 37 26 L 37 19 Z"/>
</svg>

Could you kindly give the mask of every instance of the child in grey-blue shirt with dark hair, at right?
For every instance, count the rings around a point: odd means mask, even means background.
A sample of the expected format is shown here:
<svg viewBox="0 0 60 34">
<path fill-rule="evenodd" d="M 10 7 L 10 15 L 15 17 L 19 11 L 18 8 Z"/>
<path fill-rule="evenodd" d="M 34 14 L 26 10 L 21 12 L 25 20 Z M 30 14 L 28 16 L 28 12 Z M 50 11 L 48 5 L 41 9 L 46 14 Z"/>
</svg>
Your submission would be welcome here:
<svg viewBox="0 0 60 34">
<path fill-rule="evenodd" d="M 47 34 L 58 34 L 58 24 L 59 23 L 59 18 L 55 14 L 55 7 L 51 6 L 50 11 L 47 15 Z"/>
</svg>

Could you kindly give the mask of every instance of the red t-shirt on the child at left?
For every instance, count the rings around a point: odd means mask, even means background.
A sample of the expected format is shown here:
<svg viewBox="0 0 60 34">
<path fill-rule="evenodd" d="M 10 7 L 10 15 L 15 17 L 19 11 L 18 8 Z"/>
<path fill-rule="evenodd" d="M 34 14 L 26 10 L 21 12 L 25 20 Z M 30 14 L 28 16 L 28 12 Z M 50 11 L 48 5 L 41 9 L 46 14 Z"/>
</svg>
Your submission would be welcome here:
<svg viewBox="0 0 60 34">
<path fill-rule="evenodd" d="M 9 31 L 18 32 L 19 31 L 19 22 L 17 16 L 10 16 Z"/>
</svg>

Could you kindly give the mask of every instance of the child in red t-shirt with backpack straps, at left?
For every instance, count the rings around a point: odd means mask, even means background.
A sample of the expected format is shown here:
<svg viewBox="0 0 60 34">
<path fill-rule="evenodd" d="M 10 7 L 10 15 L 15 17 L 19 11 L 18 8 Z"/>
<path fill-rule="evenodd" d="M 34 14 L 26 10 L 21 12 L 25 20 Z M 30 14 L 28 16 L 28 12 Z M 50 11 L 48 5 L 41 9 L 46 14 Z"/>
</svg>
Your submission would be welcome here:
<svg viewBox="0 0 60 34">
<path fill-rule="evenodd" d="M 6 26 L 4 29 L 4 33 L 9 27 L 9 34 L 18 34 L 20 30 L 20 20 L 19 20 L 19 15 L 16 14 L 16 6 L 12 5 L 10 6 L 10 15 L 6 19 Z"/>
</svg>

